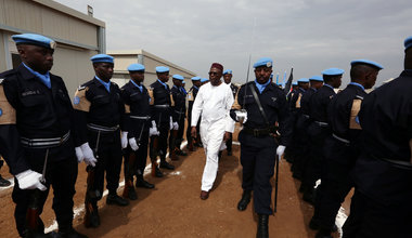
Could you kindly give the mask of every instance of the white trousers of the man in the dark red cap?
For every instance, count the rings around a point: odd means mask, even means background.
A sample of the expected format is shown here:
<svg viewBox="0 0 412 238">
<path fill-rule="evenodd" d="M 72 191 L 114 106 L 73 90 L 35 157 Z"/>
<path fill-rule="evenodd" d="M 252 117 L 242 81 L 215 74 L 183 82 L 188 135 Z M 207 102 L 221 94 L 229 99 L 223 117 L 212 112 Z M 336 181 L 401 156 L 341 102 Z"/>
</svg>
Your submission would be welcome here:
<svg viewBox="0 0 412 238">
<path fill-rule="evenodd" d="M 202 190 L 208 191 L 214 186 L 219 167 L 219 149 L 223 142 L 226 120 L 201 122 L 201 137 L 206 154 L 206 164 L 202 176 Z"/>
</svg>

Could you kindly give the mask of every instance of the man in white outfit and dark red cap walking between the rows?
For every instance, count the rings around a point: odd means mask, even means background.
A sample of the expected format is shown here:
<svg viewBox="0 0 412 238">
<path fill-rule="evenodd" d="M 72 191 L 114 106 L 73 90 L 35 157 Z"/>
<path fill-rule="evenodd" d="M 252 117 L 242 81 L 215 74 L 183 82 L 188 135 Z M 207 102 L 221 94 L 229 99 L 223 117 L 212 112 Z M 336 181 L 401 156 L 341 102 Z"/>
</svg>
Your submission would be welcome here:
<svg viewBox="0 0 412 238">
<path fill-rule="evenodd" d="M 202 114 L 201 137 L 206 154 L 206 164 L 202 176 L 201 199 L 209 197 L 219 164 L 219 149 L 230 138 L 234 121 L 229 116 L 233 104 L 230 85 L 222 83 L 223 66 L 214 63 L 209 71 L 209 82 L 202 85 L 192 109 L 192 136 L 196 136 L 196 124 Z"/>
</svg>

